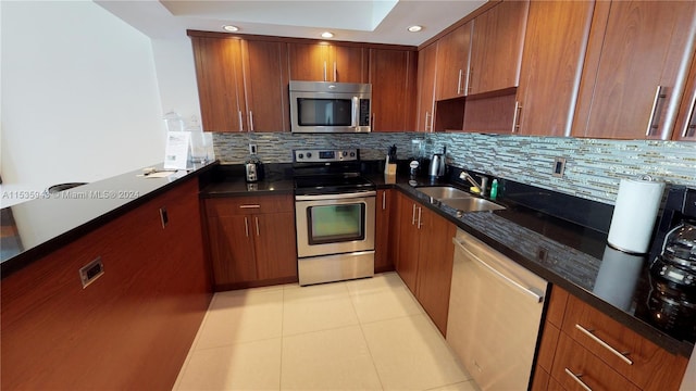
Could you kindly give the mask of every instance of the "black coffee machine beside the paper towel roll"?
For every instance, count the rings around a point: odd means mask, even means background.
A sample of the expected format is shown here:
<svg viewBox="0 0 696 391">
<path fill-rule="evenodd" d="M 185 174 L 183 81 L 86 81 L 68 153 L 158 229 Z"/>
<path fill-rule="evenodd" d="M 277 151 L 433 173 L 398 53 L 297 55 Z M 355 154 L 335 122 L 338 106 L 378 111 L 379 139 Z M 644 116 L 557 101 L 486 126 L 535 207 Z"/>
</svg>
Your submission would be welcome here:
<svg viewBox="0 0 696 391">
<path fill-rule="evenodd" d="M 670 188 L 649 262 L 652 323 L 696 340 L 696 188 Z"/>
</svg>

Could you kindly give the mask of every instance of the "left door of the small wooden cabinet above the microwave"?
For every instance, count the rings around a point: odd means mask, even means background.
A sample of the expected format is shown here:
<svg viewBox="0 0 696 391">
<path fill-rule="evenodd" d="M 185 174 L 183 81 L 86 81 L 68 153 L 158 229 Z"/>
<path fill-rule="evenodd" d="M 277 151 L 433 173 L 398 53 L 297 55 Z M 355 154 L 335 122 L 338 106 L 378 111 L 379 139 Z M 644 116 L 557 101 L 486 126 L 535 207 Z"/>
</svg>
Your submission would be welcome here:
<svg viewBox="0 0 696 391">
<path fill-rule="evenodd" d="M 326 81 L 328 50 L 327 43 L 288 43 L 290 80 Z"/>
</svg>

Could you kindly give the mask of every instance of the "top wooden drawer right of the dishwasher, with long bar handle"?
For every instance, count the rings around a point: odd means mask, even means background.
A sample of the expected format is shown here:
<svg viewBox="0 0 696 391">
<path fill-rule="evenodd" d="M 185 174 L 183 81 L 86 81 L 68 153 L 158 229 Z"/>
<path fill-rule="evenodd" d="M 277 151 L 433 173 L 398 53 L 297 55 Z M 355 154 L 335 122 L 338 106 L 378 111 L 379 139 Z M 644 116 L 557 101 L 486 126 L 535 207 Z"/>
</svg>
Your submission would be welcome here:
<svg viewBox="0 0 696 391">
<path fill-rule="evenodd" d="M 668 353 L 573 295 L 562 331 L 642 389 L 679 389 L 686 370 L 685 357 Z"/>
</svg>

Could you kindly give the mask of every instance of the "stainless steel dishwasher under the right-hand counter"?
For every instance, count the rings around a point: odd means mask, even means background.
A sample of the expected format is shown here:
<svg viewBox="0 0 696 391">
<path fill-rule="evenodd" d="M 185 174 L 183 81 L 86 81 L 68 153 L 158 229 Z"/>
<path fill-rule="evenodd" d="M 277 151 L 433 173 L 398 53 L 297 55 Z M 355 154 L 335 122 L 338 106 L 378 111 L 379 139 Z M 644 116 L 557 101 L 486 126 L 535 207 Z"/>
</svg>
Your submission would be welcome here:
<svg viewBox="0 0 696 391">
<path fill-rule="evenodd" d="M 447 342 L 482 390 L 526 390 L 548 282 L 457 230 Z"/>
</svg>

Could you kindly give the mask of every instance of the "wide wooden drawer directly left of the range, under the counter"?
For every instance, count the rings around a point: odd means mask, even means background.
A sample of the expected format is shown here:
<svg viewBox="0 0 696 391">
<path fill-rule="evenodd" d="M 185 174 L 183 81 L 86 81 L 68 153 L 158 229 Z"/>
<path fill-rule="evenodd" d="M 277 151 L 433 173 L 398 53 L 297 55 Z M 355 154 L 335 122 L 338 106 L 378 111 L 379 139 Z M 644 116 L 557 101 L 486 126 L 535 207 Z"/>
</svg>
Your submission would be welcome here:
<svg viewBox="0 0 696 391">
<path fill-rule="evenodd" d="M 206 213 L 209 216 L 231 216 L 238 214 L 261 214 L 293 212 L 295 202 L 291 194 L 231 197 L 206 200 Z"/>
</svg>

